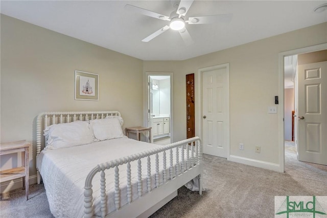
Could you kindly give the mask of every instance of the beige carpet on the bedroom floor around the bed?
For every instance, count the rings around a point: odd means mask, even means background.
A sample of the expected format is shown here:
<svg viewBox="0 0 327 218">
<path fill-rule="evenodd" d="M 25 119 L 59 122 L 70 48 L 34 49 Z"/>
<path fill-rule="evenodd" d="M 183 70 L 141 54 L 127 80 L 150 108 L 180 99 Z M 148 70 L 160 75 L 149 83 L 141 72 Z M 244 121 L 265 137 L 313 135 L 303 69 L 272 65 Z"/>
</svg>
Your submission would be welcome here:
<svg viewBox="0 0 327 218">
<path fill-rule="evenodd" d="M 285 173 L 203 156 L 202 195 L 184 187 L 151 217 L 274 217 L 275 195 L 327 195 L 327 166 L 296 160 L 286 149 Z M 53 217 L 42 185 L 32 185 L 31 199 L 14 190 L 1 197 L 1 217 Z"/>
</svg>

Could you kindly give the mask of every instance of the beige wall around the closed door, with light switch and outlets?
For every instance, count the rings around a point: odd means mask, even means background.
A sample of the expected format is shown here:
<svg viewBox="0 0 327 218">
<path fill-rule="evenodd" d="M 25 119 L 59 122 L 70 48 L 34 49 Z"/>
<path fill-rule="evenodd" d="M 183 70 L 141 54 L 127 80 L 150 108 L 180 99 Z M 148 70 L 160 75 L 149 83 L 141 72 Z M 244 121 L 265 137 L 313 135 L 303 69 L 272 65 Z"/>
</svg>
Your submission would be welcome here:
<svg viewBox="0 0 327 218">
<path fill-rule="evenodd" d="M 326 32 L 323 23 L 180 62 L 144 61 L 144 71 L 174 72 L 174 141 L 186 137 L 185 75 L 229 63 L 230 155 L 278 164 L 278 114 L 268 114 L 278 95 L 278 53 L 327 42 Z"/>
</svg>

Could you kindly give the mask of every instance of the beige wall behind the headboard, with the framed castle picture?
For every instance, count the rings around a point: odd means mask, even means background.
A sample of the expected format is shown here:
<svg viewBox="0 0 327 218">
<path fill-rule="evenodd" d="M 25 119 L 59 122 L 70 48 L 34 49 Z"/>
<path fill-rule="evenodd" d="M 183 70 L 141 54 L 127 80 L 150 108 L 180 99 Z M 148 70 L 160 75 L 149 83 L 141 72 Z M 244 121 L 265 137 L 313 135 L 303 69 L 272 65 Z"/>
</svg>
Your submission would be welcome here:
<svg viewBox="0 0 327 218">
<path fill-rule="evenodd" d="M 33 142 L 48 111 L 119 110 L 124 126 L 143 123 L 143 61 L 1 15 L 1 142 Z M 75 70 L 99 74 L 99 101 L 74 100 Z M 2 156 L 2 169 L 16 166 Z"/>
</svg>

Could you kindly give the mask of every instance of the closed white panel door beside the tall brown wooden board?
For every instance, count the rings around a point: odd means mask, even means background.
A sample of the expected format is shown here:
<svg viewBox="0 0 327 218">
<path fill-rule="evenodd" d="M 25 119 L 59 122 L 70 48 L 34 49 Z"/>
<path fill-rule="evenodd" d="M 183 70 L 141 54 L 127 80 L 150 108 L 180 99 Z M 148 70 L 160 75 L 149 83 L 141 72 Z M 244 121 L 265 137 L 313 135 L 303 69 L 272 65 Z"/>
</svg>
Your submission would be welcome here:
<svg viewBox="0 0 327 218">
<path fill-rule="evenodd" d="M 202 71 L 203 153 L 229 156 L 229 64 Z"/>
</svg>

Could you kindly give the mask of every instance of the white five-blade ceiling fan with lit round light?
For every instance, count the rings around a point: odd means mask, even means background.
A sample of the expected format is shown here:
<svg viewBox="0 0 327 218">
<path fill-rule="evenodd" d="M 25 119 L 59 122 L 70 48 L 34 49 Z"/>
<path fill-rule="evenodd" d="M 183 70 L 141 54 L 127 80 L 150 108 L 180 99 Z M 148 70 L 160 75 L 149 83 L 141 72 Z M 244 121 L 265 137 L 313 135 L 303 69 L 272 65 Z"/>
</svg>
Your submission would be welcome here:
<svg viewBox="0 0 327 218">
<path fill-rule="evenodd" d="M 151 35 L 147 36 L 146 38 L 142 39 L 144 42 L 148 42 L 155 38 L 156 36 L 160 35 L 161 33 L 166 32 L 169 29 L 178 31 L 182 39 L 184 40 L 186 45 L 191 45 L 194 43 L 190 33 L 185 27 L 185 24 L 212 24 L 218 21 L 230 21 L 232 18 L 232 14 L 216 14 L 216 15 L 208 15 L 208 16 L 196 16 L 196 17 L 189 17 L 185 19 L 186 13 L 189 11 L 193 0 L 181 0 L 179 1 L 171 1 L 172 5 L 175 9 L 170 16 L 166 16 L 163 14 L 159 14 L 153 11 L 149 11 L 144 8 L 139 8 L 133 5 L 125 5 L 125 9 L 137 13 L 141 13 L 146 16 L 154 17 L 161 20 L 170 21 L 169 25 L 160 28 L 156 32 L 152 33 Z"/>
</svg>

